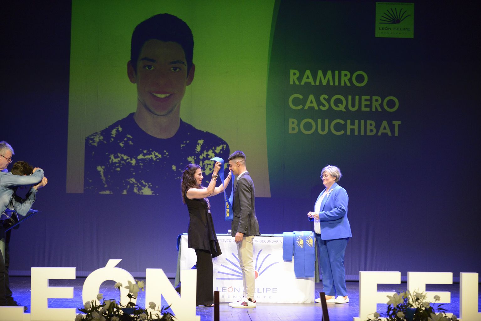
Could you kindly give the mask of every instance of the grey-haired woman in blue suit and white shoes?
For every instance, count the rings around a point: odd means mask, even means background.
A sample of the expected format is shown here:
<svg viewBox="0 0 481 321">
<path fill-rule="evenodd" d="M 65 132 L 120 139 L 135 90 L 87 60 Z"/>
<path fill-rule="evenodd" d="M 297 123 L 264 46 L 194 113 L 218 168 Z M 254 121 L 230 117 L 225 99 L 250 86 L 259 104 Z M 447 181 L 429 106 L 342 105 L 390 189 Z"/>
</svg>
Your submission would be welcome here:
<svg viewBox="0 0 481 321">
<path fill-rule="evenodd" d="M 349 197 L 346 190 L 337 185 L 341 176 L 341 171 L 336 166 L 327 165 L 322 169 L 322 183 L 326 188 L 317 198 L 314 211 L 307 213 L 309 220 L 314 221 L 322 285 L 328 303 L 349 302 L 344 252 L 352 234 L 347 219 Z M 320 303 L 320 298 L 316 302 Z"/>
</svg>

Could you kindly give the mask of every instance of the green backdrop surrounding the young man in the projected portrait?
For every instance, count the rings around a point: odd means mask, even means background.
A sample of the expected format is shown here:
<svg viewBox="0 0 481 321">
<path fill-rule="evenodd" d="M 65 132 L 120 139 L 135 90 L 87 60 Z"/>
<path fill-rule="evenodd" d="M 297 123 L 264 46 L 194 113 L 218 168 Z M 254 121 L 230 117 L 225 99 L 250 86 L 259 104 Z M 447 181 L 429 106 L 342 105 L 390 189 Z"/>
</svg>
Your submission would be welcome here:
<svg viewBox="0 0 481 321">
<path fill-rule="evenodd" d="M 67 192 L 84 189 L 82 138 L 136 110 L 136 86 L 127 78 L 132 31 L 167 12 L 190 26 L 195 43 L 195 77 L 182 100 L 181 119 L 223 138 L 232 150 L 253 155 L 250 170 L 259 177 L 258 194 L 270 196 L 265 104 L 274 1 L 219 3 L 73 2 Z M 251 143 L 245 146 L 244 140 Z M 177 168 L 178 178 L 184 167 Z"/>
</svg>

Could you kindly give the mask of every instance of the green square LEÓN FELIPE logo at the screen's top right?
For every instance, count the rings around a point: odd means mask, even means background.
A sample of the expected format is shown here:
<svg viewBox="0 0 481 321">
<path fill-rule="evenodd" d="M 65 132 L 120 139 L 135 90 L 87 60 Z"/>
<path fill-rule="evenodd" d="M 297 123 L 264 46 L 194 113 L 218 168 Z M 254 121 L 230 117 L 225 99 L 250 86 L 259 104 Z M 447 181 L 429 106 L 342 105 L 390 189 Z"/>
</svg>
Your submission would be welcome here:
<svg viewBox="0 0 481 321">
<path fill-rule="evenodd" d="M 376 37 L 414 38 L 414 3 L 376 2 Z"/>
</svg>

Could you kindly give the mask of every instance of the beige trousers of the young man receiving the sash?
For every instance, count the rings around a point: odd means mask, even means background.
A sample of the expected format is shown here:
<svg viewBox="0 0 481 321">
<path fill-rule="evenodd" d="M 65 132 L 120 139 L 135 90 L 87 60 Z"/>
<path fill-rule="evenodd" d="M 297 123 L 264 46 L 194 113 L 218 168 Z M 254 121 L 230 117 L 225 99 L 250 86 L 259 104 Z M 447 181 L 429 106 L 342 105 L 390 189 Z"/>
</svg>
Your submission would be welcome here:
<svg viewBox="0 0 481 321">
<path fill-rule="evenodd" d="M 241 263 L 244 296 L 254 298 L 255 272 L 254 272 L 254 235 L 244 236 L 242 242 L 237 243 L 237 254 Z"/>
</svg>

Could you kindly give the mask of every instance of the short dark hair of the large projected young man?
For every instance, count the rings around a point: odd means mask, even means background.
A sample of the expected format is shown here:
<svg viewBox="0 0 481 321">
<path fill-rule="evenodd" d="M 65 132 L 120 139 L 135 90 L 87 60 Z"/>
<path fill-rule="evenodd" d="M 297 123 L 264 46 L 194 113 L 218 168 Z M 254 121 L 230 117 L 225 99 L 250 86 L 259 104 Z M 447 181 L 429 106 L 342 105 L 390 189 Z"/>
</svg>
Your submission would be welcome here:
<svg viewBox="0 0 481 321">
<path fill-rule="evenodd" d="M 130 63 L 137 73 L 137 60 L 144 43 L 150 39 L 177 42 L 184 49 L 187 74 L 192 67 L 194 37 L 189 26 L 180 18 L 169 13 L 159 13 L 137 25 L 130 43 Z"/>
</svg>

